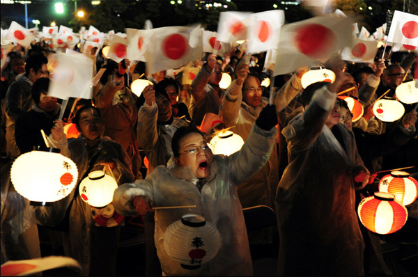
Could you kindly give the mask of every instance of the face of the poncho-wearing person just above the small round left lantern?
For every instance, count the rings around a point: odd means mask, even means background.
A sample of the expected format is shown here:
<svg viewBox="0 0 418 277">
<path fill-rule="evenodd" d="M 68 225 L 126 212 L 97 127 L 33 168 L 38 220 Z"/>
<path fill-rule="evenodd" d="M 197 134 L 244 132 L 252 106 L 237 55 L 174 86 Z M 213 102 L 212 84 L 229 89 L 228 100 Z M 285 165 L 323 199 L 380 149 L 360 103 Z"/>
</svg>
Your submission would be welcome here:
<svg viewBox="0 0 418 277">
<path fill-rule="evenodd" d="M 98 139 L 103 132 L 103 122 L 97 111 L 86 109 L 80 114 L 79 132 L 90 140 Z"/>
</svg>

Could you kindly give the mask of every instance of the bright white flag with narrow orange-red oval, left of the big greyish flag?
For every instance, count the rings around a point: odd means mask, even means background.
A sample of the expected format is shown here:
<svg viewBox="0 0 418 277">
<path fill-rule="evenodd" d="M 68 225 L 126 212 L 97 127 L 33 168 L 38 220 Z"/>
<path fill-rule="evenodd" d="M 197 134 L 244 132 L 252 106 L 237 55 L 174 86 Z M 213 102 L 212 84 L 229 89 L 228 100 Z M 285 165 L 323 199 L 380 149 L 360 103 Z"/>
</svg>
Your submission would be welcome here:
<svg viewBox="0 0 418 277">
<path fill-rule="evenodd" d="M 268 10 L 250 16 L 247 52 L 249 54 L 265 52 L 277 48 L 280 27 L 284 24 L 283 10 Z"/>
</svg>

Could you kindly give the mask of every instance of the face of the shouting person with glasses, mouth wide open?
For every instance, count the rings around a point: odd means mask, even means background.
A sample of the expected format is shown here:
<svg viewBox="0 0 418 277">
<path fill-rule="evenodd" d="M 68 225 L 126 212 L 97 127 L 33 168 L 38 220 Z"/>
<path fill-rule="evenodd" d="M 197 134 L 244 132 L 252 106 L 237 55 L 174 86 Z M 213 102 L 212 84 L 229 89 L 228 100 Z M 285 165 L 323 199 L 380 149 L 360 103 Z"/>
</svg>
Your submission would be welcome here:
<svg viewBox="0 0 418 277">
<path fill-rule="evenodd" d="M 194 176 L 208 177 L 212 158 L 212 151 L 201 134 L 190 133 L 180 140 L 180 156 L 176 158 L 176 164 L 189 167 Z"/>
</svg>

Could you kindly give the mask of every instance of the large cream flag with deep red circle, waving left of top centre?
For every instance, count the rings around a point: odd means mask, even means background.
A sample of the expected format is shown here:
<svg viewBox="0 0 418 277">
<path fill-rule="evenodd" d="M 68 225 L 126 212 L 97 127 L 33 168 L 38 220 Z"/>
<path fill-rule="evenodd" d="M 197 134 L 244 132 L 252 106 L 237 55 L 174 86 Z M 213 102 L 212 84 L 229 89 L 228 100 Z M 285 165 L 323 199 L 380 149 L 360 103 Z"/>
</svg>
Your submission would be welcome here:
<svg viewBox="0 0 418 277">
<path fill-rule="evenodd" d="M 147 30 L 144 53 L 148 74 L 180 68 L 202 54 L 202 32 L 199 26 L 170 26 Z"/>
</svg>

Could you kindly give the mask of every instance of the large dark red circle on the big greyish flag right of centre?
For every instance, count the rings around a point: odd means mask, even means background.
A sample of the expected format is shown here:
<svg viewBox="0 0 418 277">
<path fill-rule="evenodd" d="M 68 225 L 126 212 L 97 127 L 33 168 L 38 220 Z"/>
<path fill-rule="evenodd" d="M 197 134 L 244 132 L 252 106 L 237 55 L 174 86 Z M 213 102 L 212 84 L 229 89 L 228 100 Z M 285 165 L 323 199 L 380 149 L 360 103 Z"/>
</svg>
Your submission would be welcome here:
<svg viewBox="0 0 418 277">
<path fill-rule="evenodd" d="M 335 35 L 325 26 L 309 24 L 297 29 L 295 43 L 302 54 L 316 58 L 332 52 L 335 45 Z"/>
</svg>

